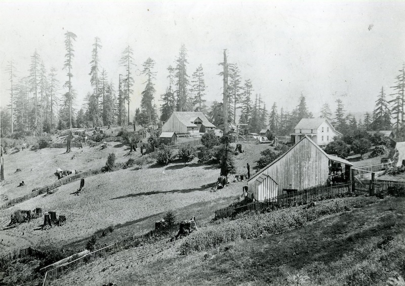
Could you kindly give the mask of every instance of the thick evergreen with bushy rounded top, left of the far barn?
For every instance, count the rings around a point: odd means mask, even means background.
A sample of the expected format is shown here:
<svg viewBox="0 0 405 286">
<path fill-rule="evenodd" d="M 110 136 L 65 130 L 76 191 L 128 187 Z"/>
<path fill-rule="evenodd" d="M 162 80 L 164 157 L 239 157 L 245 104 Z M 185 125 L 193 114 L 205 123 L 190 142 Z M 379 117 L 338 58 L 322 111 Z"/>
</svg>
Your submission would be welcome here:
<svg viewBox="0 0 405 286">
<path fill-rule="evenodd" d="M 152 117 L 153 113 L 153 102 L 154 102 L 154 94 L 155 88 L 153 84 L 153 79 L 155 78 L 156 72 L 153 71 L 155 66 L 155 61 L 151 58 L 148 58 L 143 64 L 142 74 L 147 76 L 147 80 L 144 82 L 146 84 L 145 90 L 142 92 L 142 100 L 141 100 L 141 108 L 142 112 L 145 114 L 146 122 L 142 122 L 142 124 L 147 123 L 148 125 L 154 124 L 156 118 Z"/>
</svg>

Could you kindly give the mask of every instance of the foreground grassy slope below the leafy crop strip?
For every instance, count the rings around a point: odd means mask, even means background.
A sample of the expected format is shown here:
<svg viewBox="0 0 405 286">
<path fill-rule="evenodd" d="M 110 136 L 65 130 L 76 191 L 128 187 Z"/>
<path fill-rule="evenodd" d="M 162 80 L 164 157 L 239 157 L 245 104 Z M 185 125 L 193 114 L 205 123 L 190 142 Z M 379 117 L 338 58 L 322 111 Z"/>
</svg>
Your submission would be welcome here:
<svg viewBox="0 0 405 286">
<path fill-rule="evenodd" d="M 345 198 L 350 200 L 354 198 Z M 405 198 L 329 215 L 280 234 L 181 256 L 181 240 L 134 262 L 138 248 L 80 266 L 51 285 L 386 285 L 405 277 Z M 218 225 L 221 227 L 221 224 Z"/>
</svg>

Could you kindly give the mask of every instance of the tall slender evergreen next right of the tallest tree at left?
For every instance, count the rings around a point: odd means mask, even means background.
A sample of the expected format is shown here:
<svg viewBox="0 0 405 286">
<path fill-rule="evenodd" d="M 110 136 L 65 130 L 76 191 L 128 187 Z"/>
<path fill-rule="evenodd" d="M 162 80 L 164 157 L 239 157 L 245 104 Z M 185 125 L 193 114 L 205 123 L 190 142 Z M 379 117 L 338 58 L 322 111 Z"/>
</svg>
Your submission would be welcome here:
<svg viewBox="0 0 405 286">
<path fill-rule="evenodd" d="M 97 101 L 97 106 L 95 110 L 95 116 L 94 119 L 96 122 L 93 122 L 93 125 L 98 124 L 98 119 L 100 117 L 100 110 L 99 110 L 99 104 L 98 102 L 100 101 L 100 89 L 99 89 L 99 50 L 102 48 L 101 46 L 101 40 L 99 37 L 94 38 L 94 44 L 93 44 L 93 51 L 92 51 L 92 61 L 90 62 L 91 68 L 90 68 L 90 84 L 93 87 L 93 97 Z M 105 94 L 103 94 L 105 96 Z M 103 97 L 103 110 L 104 110 L 104 101 L 105 98 Z"/>
</svg>

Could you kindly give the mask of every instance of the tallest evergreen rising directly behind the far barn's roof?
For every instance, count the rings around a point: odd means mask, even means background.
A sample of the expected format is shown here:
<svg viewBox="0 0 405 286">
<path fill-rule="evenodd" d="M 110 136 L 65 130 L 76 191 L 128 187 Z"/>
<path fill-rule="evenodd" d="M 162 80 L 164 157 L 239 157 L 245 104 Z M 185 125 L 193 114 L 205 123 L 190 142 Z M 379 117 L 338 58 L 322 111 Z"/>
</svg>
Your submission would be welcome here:
<svg viewBox="0 0 405 286">
<path fill-rule="evenodd" d="M 187 75 L 187 50 L 184 44 L 181 45 L 179 56 L 176 59 L 175 77 L 177 87 L 177 111 L 191 111 L 188 98 L 188 75 Z"/>
</svg>

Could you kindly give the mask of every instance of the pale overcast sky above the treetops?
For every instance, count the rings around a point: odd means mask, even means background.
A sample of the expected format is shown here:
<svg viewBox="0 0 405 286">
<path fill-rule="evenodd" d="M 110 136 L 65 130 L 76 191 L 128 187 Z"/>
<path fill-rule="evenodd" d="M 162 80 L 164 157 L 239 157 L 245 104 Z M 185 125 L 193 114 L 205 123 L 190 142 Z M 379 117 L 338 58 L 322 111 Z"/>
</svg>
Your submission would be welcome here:
<svg viewBox="0 0 405 286">
<path fill-rule="evenodd" d="M 399 1 L 0 0 L 0 104 L 10 101 L 7 62 L 13 60 L 17 75 L 25 76 L 35 49 L 64 83 L 64 33 L 71 31 L 77 35 L 72 71 L 77 107 L 92 90 L 89 63 L 98 36 L 101 65 L 116 87 L 124 73 L 121 52 L 127 45 L 134 50 L 132 110 L 144 88 L 142 63 L 148 57 L 156 61 L 157 101 L 168 86 L 167 67 L 175 65 L 184 43 L 190 77 L 203 65 L 208 101 L 222 99 L 218 63 L 227 49 L 228 62 L 238 63 L 242 79 L 252 80 L 268 109 L 275 101 L 291 110 L 302 92 L 314 115 L 326 102 L 334 110 L 341 94 L 347 94 L 342 100 L 348 111 L 371 111 L 381 87 L 393 85 L 405 61 L 404 15 L 405 2 Z"/>
</svg>

